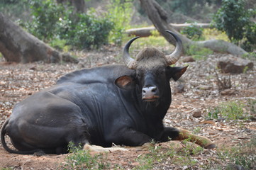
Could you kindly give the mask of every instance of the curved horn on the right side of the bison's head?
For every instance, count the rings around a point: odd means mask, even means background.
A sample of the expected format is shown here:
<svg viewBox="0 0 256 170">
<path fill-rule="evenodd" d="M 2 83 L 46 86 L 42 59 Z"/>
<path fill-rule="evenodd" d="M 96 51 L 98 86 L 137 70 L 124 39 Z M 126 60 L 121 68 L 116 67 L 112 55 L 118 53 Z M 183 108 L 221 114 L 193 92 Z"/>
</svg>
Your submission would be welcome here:
<svg viewBox="0 0 256 170">
<path fill-rule="evenodd" d="M 179 37 L 176 34 L 172 33 L 171 31 L 169 30 L 165 30 L 165 31 L 167 33 L 170 33 L 176 40 L 176 48 L 174 52 L 172 52 L 172 54 L 170 55 L 165 56 L 167 59 L 167 65 L 172 65 L 176 63 L 182 55 L 182 40 L 180 40 Z"/>
</svg>

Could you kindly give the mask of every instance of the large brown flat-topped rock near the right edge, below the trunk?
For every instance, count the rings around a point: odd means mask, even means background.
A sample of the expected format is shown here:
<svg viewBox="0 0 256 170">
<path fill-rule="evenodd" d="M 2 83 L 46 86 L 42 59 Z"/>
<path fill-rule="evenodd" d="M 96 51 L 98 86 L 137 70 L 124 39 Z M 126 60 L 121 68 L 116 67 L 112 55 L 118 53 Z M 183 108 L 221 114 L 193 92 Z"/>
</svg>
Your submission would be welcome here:
<svg viewBox="0 0 256 170">
<path fill-rule="evenodd" d="M 233 56 L 221 57 L 218 60 L 217 67 L 221 69 L 223 73 L 240 74 L 248 69 L 252 69 L 253 62 Z"/>
</svg>

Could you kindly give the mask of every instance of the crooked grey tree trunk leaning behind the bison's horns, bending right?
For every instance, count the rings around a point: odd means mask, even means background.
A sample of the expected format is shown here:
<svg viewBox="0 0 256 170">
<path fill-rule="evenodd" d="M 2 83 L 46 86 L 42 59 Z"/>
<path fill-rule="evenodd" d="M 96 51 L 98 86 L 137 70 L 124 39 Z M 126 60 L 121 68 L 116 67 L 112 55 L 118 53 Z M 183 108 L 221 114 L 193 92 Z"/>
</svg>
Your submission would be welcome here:
<svg viewBox="0 0 256 170">
<path fill-rule="evenodd" d="M 155 0 L 140 0 L 141 6 L 145 9 L 148 18 L 152 21 L 153 25 L 161 33 L 165 39 L 175 45 L 176 42 L 174 38 L 169 36 L 165 30 L 171 30 L 172 32 L 179 35 L 179 38 L 184 44 L 186 49 L 190 45 L 198 45 L 199 47 L 206 47 L 215 52 L 228 52 L 232 55 L 246 55 L 247 52 L 242 48 L 234 45 L 230 42 L 225 42 L 223 40 L 206 40 L 206 41 L 192 41 L 184 35 L 181 35 L 177 30 L 167 23 L 167 12 L 159 5 Z"/>
</svg>

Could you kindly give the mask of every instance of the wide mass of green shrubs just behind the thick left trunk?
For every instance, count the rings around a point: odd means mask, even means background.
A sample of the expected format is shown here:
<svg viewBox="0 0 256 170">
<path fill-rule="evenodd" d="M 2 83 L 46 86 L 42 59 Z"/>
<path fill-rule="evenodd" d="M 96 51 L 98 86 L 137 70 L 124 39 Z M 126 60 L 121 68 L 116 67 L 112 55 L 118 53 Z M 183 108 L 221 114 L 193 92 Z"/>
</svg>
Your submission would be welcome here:
<svg viewBox="0 0 256 170">
<path fill-rule="evenodd" d="M 113 22 L 106 16 L 98 16 L 93 8 L 87 13 L 74 13 L 72 6 L 50 0 L 31 0 L 30 8 L 33 21 L 25 26 L 45 42 L 60 39 L 79 49 L 97 48 L 108 43 L 113 29 Z"/>
</svg>

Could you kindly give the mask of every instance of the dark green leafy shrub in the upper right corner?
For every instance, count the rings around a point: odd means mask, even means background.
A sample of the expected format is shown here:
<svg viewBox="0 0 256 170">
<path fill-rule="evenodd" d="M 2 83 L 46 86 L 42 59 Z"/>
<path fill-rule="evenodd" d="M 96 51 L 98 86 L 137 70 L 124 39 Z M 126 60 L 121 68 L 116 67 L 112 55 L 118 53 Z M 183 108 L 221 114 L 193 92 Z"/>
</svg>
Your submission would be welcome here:
<svg viewBox="0 0 256 170">
<path fill-rule="evenodd" d="M 223 0 L 213 16 L 213 25 L 225 31 L 231 42 L 252 51 L 256 45 L 256 23 L 250 21 L 256 10 L 246 10 L 244 0 Z"/>
</svg>

